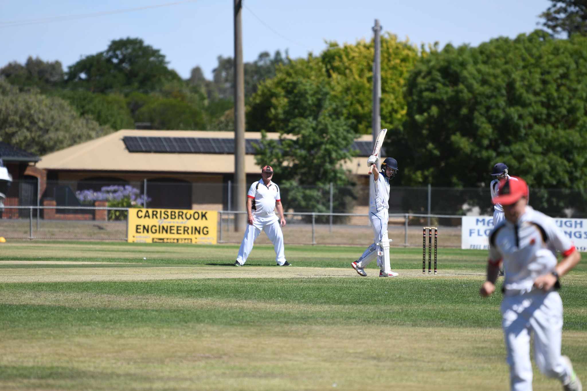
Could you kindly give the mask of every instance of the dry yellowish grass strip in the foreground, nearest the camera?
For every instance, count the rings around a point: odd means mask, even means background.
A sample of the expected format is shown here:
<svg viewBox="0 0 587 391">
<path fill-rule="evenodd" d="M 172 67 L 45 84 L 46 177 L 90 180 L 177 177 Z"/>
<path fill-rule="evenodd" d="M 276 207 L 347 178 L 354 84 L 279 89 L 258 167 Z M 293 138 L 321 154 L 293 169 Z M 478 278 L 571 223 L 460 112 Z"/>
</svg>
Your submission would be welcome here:
<svg viewBox="0 0 587 391">
<path fill-rule="evenodd" d="M 111 331 L 112 332 L 112 331 Z M 0 341 L 0 368 L 66 368 L 52 379 L 6 379 L 5 387 L 199 390 L 502 390 L 499 329 L 222 327 L 120 329 L 118 335 Z M 585 332 L 565 345 L 585 349 Z M 63 371 L 62 371 L 63 372 Z M 69 373 L 69 375 L 67 375 Z M 80 374 L 76 376 L 75 374 Z M 559 387 L 535 376 L 535 390 Z"/>
</svg>

